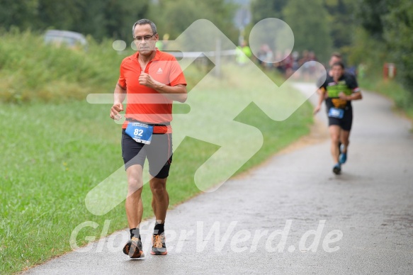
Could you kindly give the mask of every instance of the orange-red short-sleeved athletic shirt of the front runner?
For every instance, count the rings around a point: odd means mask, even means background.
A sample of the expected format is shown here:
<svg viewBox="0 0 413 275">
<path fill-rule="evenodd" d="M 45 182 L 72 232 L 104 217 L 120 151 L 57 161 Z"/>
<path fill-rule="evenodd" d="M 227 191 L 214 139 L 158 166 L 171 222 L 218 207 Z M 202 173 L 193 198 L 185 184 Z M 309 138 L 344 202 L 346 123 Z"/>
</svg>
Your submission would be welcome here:
<svg viewBox="0 0 413 275">
<path fill-rule="evenodd" d="M 172 101 L 156 90 L 139 84 L 142 72 L 137 57 L 139 52 L 126 57 L 120 64 L 118 84 L 126 89 L 128 101 L 125 117 L 143 123 L 162 124 L 172 120 Z M 173 55 L 157 49 L 154 59 L 145 68 L 157 82 L 168 86 L 186 85 L 185 77 L 179 63 Z M 128 121 L 123 123 L 125 129 Z M 154 133 L 172 133 L 171 125 L 155 126 Z"/>
</svg>

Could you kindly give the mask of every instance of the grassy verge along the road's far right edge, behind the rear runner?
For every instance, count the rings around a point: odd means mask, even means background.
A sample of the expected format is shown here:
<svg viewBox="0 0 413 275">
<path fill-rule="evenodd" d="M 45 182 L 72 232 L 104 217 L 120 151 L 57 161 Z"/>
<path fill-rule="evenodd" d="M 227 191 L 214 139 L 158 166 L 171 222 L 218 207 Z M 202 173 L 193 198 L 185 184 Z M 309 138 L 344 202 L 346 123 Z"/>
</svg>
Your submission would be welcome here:
<svg viewBox="0 0 413 275">
<path fill-rule="evenodd" d="M 360 86 L 368 91 L 377 91 L 395 102 L 398 111 L 402 111 L 413 120 L 413 94 L 395 80 L 360 79 Z"/>
</svg>

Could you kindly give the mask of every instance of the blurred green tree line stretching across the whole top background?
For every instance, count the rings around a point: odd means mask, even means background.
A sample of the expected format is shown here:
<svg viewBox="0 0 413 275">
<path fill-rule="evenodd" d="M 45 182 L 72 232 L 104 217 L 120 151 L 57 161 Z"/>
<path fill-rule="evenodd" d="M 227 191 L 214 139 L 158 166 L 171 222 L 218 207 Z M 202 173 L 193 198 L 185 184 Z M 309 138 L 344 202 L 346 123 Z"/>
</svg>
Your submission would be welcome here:
<svg viewBox="0 0 413 275">
<path fill-rule="evenodd" d="M 176 38 L 205 18 L 238 43 L 237 4 L 227 0 L 0 0 L 0 28 L 74 30 L 131 41 L 138 18 L 157 23 L 159 36 Z M 395 62 L 400 79 L 413 91 L 413 2 L 411 0 L 251 0 L 252 20 L 244 36 L 264 18 L 280 18 L 292 28 L 294 50 L 312 50 L 320 61 L 339 50 L 351 64 L 377 71 Z M 202 33 L 202 30 L 200 30 Z"/>
</svg>

